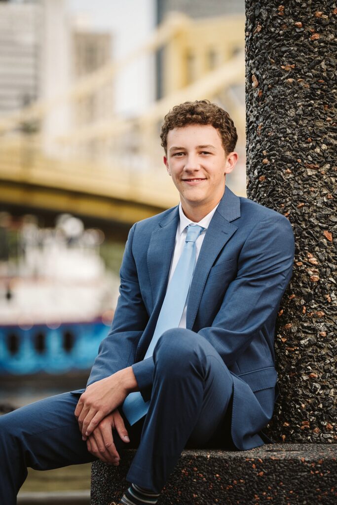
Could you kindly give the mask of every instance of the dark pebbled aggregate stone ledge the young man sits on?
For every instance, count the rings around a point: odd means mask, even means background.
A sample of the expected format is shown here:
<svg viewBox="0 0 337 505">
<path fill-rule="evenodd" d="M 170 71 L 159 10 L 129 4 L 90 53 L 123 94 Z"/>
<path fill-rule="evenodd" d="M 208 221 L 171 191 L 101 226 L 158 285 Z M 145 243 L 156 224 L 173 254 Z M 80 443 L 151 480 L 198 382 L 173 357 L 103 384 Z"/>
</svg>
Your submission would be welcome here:
<svg viewBox="0 0 337 505">
<path fill-rule="evenodd" d="M 135 450 L 119 467 L 92 464 L 91 505 L 108 505 L 128 487 Z M 246 451 L 186 450 L 162 490 L 158 505 L 335 505 L 337 446 L 265 444 Z"/>
</svg>

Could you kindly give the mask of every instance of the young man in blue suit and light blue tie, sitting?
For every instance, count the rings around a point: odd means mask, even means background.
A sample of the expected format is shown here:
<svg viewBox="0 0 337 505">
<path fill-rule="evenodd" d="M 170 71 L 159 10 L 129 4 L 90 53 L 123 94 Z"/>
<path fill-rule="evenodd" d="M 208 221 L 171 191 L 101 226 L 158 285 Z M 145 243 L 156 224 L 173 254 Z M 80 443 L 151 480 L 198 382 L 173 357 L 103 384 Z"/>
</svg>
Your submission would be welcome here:
<svg viewBox="0 0 337 505">
<path fill-rule="evenodd" d="M 139 446 L 120 503 L 156 503 L 184 447 L 269 441 L 261 430 L 274 408 L 291 225 L 225 187 L 237 136 L 224 110 L 208 100 L 176 106 L 161 138 L 180 204 L 132 226 L 85 391 L 0 418 L 1 502 L 16 502 L 27 466 L 118 465 L 131 440 Z"/>
</svg>

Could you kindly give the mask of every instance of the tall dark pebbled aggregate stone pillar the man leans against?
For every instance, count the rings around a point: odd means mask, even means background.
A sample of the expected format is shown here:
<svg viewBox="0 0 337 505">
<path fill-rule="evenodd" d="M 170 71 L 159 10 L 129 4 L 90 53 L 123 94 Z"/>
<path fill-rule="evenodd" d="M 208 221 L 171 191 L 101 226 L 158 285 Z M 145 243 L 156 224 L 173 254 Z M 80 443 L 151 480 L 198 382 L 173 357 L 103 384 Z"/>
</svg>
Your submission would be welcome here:
<svg viewBox="0 0 337 505">
<path fill-rule="evenodd" d="M 336 15 L 331 1 L 246 0 L 248 197 L 296 240 L 265 430 L 276 442 L 337 441 Z"/>
</svg>

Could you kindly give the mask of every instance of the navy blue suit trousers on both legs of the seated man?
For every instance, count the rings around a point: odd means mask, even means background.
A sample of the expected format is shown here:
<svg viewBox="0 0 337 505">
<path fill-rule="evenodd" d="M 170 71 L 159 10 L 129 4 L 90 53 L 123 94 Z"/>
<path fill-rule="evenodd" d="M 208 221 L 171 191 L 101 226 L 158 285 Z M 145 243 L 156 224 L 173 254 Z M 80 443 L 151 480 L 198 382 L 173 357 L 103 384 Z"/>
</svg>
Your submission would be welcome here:
<svg viewBox="0 0 337 505">
<path fill-rule="evenodd" d="M 154 355 L 150 409 L 130 427 L 131 442 L 114 431 L 117 450 L 138 447 L 127 479 L 160 492 L 181 451 L 231 448 L 233 379 L 215 348 L 187 329 L 166 331 Z M 74 410 L 80 393 L 31 403 L 0 417 L 0 503 L 14 505 L 27 467 L 50 470 L 88 463 L 94 457 L 82 440 Z"/>
</svg>

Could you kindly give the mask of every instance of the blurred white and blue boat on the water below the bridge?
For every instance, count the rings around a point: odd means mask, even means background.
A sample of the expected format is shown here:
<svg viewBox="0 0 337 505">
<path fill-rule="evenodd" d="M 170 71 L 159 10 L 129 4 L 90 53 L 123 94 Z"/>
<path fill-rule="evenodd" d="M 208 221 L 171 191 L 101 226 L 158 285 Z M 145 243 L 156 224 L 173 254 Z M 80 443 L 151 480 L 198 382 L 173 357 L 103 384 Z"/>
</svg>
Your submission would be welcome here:
<svg viewBox="0 0 337 505">
<path fill-rule="evenodd" d="M 68 214 L 40 228 L 8 213 L 0 232 L 0 376 L 89 370 L 118 296 L 100 255 L 104 233 Z"/>
</svg>

